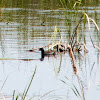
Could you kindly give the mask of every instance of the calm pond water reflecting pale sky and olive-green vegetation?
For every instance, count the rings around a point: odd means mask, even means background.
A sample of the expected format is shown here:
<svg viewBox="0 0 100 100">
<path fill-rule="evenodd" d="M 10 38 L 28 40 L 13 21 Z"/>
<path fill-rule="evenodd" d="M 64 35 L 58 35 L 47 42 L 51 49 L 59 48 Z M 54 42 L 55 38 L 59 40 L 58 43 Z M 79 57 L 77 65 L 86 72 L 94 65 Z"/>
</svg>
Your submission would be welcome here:
<svg viewBox="0 0 100 100">
<path fill-rule="evenodd" d="M 55 27 L 60 29 L 62 41 L 69 42 L 70 33 L 73 33 L 77 25 L 75 16 L 71 14 L 74 11 L 59 9 L 61 6 L 55 6 L 56 3 L 56 0 L 50 4 L 45 0 L 15 0 L 1 5 L 1 13 L 3 7 L 4 11 L 0 18 L 0 98 L 11 100 L 14 90 L 15 98 L 17 95 L 22 96 L 37 66 L 27 99 L 99 100 L 100 54 L 99 50 L 93 47 L 89 34 L 94 44 L 99 47 L 100 35 L 93 23 L 90 31 L 88 24 L 84 27 L 83 22 L 78 29 L 79 33 L 85 35 L 89 51 L 75 53 L 79 77 L 73 71 L 68 52 L 59 53 L 55 57 L 45 57 L 43 61 L 40 60 L 41 52 L 38 49 L 28 52 L 32 48 L 47 46 Z M 97 7 L 80 7 L 78 21 L 82 12 L 85 12 L 83 9 L 86 9 L 89 17 L 100 26 L 99 4 Z M 65 12 L 69 13 L 68 22 Z M 57 36 L 56 41 L 59 39 Z"/>
</svg>

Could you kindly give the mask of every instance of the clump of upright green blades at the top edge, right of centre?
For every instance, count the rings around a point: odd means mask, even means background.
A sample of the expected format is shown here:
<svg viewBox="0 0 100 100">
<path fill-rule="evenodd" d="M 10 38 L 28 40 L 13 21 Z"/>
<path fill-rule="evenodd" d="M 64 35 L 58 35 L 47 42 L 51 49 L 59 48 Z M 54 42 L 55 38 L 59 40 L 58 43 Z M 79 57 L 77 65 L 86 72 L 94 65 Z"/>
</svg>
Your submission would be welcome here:
<svg viewBox="0 0 100 100">
<path fill-rule="evenodd" d="M 82 0 L 78 0 L 78 1 L 60 0 L 60 3 L 64 9 L 66 26 L 68 26 L 68 29 L 70 30 L 70 26 L 71 26 L 70 22 L 72 20 L 72 16 L 74 16 L 76 24 L 77 24 L 77 14 L 78 14 L 80 6 L 82 5 Z M 69 15 L 71 16 L 69 17 Z"/>
</svg>

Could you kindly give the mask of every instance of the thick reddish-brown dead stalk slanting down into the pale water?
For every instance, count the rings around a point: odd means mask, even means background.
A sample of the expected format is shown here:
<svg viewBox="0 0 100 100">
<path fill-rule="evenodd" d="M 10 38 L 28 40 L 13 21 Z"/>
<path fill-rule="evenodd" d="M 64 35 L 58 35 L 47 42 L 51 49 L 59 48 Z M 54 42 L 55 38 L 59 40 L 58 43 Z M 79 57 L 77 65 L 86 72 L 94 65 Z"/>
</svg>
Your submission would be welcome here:
<svg viewBox="0 0 100 100">
<path fill-rule="evenodd" d="M 67 49 L 69 50 L 69 54 L 70 54 L 70 57 L 72 59 L 74 72 L 75 72 L 76 75 L 78 75 L 78 70 L 77 70 L 74 54 L 73 54 L 72 48 L 69 44 L 67 44 Z"/>
</svg>

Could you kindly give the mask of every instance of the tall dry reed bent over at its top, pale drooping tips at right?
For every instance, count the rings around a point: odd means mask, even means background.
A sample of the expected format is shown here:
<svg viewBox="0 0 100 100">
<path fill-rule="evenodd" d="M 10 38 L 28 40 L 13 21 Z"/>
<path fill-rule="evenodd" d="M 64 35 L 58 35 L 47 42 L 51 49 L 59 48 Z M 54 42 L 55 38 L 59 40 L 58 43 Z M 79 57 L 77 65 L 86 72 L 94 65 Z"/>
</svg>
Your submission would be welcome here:
<svg viewBox="0 0 100 100">
<path fill-rule="evenodd" d="M 82 16 L 81 16 L 81 18 L 80 18 L 80 20 L 79 20 L 79 22 L 78 22 L 78 24 L 76 25 L 76 27 L 75 27 L 75 29 L 74 29 L 74 32 L 73 32 L 71 38 L 70 38 L 69 44 L 71 45 L 72 50 L 74 49 L 76 43 L 80 44 L 79 41 L 77 40 L 77 30 L 78 30 L 78 27 L 79 27 L 80 23 L 82 22 L 83 18 L 86 18 L 86 20 L 87 20 L 88 31 L 90 31 L 90 28 L 91 28 L 90 21 L 93 22 L 93 24 L 94 24 L 95 27 L 97 28 L 97 31 L 99 31 L 99 27 L 98 27 L 98 25 L 96 24 L 96 22 L 95 22 L 92 18 L 90 18 L 86 13 L 83 13 Z M 85 19 L 84 19 L 84 20 L 85 20 Z M 94 46 L 95 48 L 98 48 L 98 49 L 99 49 L 99 47 L 97 47 L 96 45 L 94 45 L 90 33 L 89 33 L 89 35 L 90 35 L 90 39 L 91 39 L 91 42 L 92 42 L 93 46 Z M 81 38 L 82 38 L 82 37 L 81 37 Z M 87 48 L 86 48 L 86 45 L 85 45 L 85 44 L 86 44 L 85 36 L 84 36 L 83 38 L 84 38 L 84 41 L 83 41 L 84 43 L 83 43 L 83 44 L 84 44 L 84 47 L 85 47 L 85 51 L 88 51 Z M 80 48 L 80 47 L 79 47 L 79 48 Z"/>
</svg>

